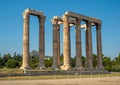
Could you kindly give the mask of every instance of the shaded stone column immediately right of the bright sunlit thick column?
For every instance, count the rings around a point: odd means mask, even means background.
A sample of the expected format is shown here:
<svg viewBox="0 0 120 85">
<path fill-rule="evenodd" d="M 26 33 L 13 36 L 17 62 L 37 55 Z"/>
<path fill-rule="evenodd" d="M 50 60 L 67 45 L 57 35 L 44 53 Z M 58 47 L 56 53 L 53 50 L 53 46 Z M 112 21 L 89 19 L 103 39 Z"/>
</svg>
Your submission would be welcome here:
<svg viewBox="0 0 120 85">
<path fill-rule="evenodd" d="M 83 69 L 82 66 L 82 46 L 81 46 L 81 26 L 80 19 L 76 19 L 76 69 Z"/>
</svg>

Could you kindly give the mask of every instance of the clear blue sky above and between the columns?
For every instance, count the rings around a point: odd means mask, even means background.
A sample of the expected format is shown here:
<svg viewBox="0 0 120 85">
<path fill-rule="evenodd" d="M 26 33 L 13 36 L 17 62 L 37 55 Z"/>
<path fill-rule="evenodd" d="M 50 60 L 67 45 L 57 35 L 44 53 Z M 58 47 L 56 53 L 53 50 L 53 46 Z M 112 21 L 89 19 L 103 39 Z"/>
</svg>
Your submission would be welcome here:
<svg viewBox="0 0 120 85">
<path fill-rule="evenodd" d="M 103 54 L 114 58 L 120 53 L 120 0 L 0 0 L 0 53 L 22 53 L 23 18 L 26 8 L 43 11 L 45 22 L 45 55 L 52 55 L 53 16 L 73 11 L 102 20 Z M 75 33 L 71 28 L 71 55 L 75 56 Z M 96 33 L 92 30 L 93 52 L 96 53 Z M 62 45 L 61 26 L 61 45 Z M 82 53 L 85 55 L 85 31 L 82 30 Z M 38 19 L 30 17 L 30 50 L 38 50 Z M 62 52 L 62 46 L 61 46 Z"/>
</svg>

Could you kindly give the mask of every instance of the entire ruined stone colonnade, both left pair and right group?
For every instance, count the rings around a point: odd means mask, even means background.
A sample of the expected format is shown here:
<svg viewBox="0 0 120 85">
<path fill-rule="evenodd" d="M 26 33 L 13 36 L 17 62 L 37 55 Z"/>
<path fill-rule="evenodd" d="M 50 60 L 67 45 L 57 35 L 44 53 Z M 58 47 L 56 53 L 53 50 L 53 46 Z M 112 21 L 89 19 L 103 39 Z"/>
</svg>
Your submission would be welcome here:
<svg viewBox="0 0 120 85">
<path fill-rule="evenodd" d="M 45 16 L 43 12 L 26 9 L 23 13 L 24 27 L 23 27 L 23 62 L 21 69 L 29 69 L 29 19 L 30 15 L 38 17 L 39 21 L 39 64 L 38 68 L 45 68 L 44 64 L 44 23 Z M 97 39 L 97 58 L 98 69 L 103 70 L 102 64 L 102 42 L 101 42 L 101 20 L 76 14 L 73 12 L 66 12 L 63 17 L 55 16 L 51 20 L 53 24 L 53 68 L 60 68 L 60 25 L 63 24 L 63 56 L 64 62 L 61 68 L 63 70 L 71 69 L 71 41 L 70 41 L 70 27 L 75 26 L 76 30 L 76 69 L 84 70 L 82 65 L 82 43 L 81 43 L 81 28 L 85 28 L 86 35 L 86 59 L 87 69 L 94 70 L 93 56 L 92 56 L 92 26 L 96 26 Z M 84 21 L 85 24 L 81 24 Z"/>
</svg>

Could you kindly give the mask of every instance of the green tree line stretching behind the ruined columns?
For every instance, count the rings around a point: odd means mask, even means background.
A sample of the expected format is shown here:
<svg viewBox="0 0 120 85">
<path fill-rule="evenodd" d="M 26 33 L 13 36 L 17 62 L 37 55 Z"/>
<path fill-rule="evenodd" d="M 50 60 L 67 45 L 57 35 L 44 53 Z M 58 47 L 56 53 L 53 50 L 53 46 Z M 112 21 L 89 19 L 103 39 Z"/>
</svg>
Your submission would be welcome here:
<svg viewBox="0 0 120 85">
<path fill-rule="evenodd" d="M 38 52 L 33 50 L 30 52 L 29 63 L 32 69 L 36 69 L 39 62 Z M 75 67 L 75 57 L 71 57 L 71 66 Z M 83 66 L 86 67 L 86 57 L 82 56 Z M 10 53 L 0 54 L 0 68 L 20 68 L 22 64 L 22 55 L 16 52 L 12 56 Z M 63 65 L 63 54 L 60 56 L 60 64 Z M 52 56 L 45 57 L 45 66 L 52 67 Z M 93 54 L 93 66 L 97 68 L 97 55 Z M 120 72 L 120 53 L 114 59 L 103 55 L 103 66 L 106 70 Z"/>
</svg>

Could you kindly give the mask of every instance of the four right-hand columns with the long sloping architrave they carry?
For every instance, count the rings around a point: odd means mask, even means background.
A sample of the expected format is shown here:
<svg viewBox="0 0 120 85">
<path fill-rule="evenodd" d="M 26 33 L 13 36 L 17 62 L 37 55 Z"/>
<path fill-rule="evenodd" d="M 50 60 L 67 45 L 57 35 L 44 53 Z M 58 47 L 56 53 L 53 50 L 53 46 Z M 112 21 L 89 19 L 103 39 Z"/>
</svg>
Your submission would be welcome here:
<svg viewBox="0 0 120 85">
<path fill-rule="evenodd" d="M 76 26 L 76 68 L 83 70 L 82 65 L 82 45 L 81 45 L 81 28 L 86 31 L 86 58 L 87 58 L 87 70 L 94 70 L 93 68 L 93 56 L 92 56 L 92 26 L 96 26 L 97 34 L 97 57 L 98 57 L 98 69 L 102 70 L 102 43 L 101 43 L 101 20 L 89 16 L 84 16 L 74 12 L 66 12 L 62 18 L 55 16 L 54 19 L 58 20 L 58 24 L 63 24 L 63 55 L 64 70 L 71 68 L 70 57 L 70 26 Z M 81 25 L 81 21 L 86 23 Z M 100 43 L 99 43 L 100 42 Z"/>
</svg>

